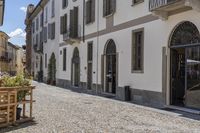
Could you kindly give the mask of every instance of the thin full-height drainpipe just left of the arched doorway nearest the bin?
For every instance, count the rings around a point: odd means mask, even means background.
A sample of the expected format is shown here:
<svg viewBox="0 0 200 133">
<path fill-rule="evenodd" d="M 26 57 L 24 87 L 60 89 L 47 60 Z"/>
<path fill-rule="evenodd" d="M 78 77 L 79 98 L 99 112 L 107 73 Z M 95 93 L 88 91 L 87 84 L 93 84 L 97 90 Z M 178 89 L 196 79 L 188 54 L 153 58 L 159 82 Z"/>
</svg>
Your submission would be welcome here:
<svg viewBox="0 0 200 133">
<path fill-rule="evenodd" d="M 98 90 L 98 76 L 99 76 L 99 0 L 97 2 L 97 68 L 96 68 L 96 94 Z"/>
</svg>

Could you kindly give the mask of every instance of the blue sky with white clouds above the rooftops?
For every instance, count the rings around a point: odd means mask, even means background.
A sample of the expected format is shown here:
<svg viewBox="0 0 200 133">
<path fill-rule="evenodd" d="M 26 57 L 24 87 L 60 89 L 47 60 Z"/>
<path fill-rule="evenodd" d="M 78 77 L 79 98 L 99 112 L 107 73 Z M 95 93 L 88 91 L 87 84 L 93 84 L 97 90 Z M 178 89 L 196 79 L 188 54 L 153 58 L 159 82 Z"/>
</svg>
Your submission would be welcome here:
<svg viewBox="0 0 200 133">
<path fill-rule="evenodd" d="M 32 3 L 36 5 L 39 0 L 5 0 L 4 24 L 0 27 L 1 31 L 6 32 L 13 44 L 25 44 L 25 25 L 26 7 Z"/>
</svg>

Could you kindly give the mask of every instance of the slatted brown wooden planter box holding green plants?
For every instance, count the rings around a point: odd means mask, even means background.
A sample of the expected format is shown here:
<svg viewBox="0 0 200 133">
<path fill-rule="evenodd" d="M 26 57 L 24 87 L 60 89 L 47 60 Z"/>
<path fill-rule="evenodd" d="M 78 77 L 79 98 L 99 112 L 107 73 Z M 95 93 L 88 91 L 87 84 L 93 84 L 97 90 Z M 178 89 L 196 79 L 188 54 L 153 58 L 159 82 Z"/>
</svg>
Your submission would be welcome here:
<svg viewBox="0 0 200 133">
<path fill-rule="evenodd" d="M 33 120 L 33 89 L 35 86 L 27 87 L 0 87 L 0 128 L 9 125 L 16 125 L 19 123 Z M 27 95 L 23 101 L 17 102 L 17 92 L 27 90 Z M 26 105 L 30 104 L 29 116 L 26 115 Z M 22 106 L 22 116 L 16 120 L 17 106 Z"/>
</svg>

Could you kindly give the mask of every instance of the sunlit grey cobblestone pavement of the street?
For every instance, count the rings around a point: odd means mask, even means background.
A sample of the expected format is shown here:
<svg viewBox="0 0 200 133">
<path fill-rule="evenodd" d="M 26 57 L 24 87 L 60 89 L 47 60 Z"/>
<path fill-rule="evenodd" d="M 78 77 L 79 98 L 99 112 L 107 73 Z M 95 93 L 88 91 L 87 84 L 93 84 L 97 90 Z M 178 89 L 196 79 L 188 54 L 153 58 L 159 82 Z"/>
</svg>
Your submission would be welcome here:
<svg viewBox="0 0 200 133">
<path fill-rule="evenodd" d="M 35 122 L 0 133 L 190 133 L 200 121 L 177 113 L 34 83 Z"/>
</svg>

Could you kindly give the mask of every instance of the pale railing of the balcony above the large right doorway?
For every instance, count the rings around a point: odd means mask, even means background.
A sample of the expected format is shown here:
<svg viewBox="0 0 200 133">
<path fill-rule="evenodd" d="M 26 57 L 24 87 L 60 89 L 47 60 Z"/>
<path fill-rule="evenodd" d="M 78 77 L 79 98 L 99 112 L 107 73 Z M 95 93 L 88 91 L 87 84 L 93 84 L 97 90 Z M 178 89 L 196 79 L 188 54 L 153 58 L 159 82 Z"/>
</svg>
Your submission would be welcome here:
<svg viewBox="0 0 200 133">
<path fill-rule="evenodd" d="M 152 11 L 154 9 L 160 8 L 162 6 L 167 6 L 178 1 L 180 0 L 149 0 L 149 10 Z"/>
</svg>

